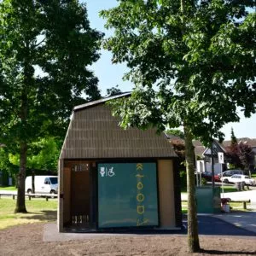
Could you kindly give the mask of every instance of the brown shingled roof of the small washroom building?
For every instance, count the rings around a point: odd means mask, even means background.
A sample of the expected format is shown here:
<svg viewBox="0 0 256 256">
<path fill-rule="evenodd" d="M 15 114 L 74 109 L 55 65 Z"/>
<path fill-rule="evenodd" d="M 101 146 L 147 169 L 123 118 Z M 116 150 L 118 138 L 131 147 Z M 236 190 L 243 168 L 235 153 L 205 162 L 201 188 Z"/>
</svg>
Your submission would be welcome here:
<svg viewBox="0 0 256 256">
<path fill-rule="evenodd" d="M 112 116 L 105 102 L 130 95 L 125 93 L 75 107 L 61 159 L 177 157 L 163 133 L 119 127 L 119 119 Z"/>
</svg>

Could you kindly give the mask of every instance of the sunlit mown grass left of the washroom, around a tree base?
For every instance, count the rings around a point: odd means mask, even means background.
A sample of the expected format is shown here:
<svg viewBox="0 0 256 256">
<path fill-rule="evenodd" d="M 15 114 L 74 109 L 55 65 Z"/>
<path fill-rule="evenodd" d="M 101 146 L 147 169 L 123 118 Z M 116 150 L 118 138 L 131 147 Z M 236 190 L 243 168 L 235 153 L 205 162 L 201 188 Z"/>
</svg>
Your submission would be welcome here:
<svg viewBox="0 0 256 256">
<path fill-rule="evenodd" d="M 57 201 L 45 199 L 26 200 L 27 213 L 14 213 L 16 200 L 0 199 L 0 230 L 18 224 L 55 221 L 57 218 Z"/>
</svg>

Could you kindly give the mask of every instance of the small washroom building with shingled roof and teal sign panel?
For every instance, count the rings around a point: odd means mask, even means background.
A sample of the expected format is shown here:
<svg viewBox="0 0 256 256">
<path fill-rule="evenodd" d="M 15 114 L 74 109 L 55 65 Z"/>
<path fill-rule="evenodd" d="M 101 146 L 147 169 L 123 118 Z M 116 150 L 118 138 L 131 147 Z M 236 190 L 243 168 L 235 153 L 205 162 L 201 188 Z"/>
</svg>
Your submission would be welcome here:
<svg viewBox="0 0 256 256">
<path fill-rule="evenodd" d="M 73 108 L 59 160 L 58 230 L 179 229 L 177 155 L 164 133 L 124 130 L 103 98 Z"/>
</svg>

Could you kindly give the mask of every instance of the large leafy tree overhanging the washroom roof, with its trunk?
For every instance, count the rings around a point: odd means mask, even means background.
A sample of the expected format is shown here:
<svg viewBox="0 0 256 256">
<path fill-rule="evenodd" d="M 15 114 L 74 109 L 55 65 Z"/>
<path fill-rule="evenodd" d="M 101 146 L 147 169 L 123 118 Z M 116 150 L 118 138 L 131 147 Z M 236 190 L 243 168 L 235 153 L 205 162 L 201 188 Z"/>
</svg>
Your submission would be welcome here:
<svg viewBox="0 0 256 256">
<path fill-rule="evenodd" d="M 130 98 L 113 103 L 122 126 L 183 125 L 188 175 L 189 251 L 200 250 L 195 209 L 193 138 L 205 144 L 255 112 L 255 1 L 119 0 L 102 11 L 114 33 L 103 44 L 113 63 L 130 67 Z"/>
</svg>

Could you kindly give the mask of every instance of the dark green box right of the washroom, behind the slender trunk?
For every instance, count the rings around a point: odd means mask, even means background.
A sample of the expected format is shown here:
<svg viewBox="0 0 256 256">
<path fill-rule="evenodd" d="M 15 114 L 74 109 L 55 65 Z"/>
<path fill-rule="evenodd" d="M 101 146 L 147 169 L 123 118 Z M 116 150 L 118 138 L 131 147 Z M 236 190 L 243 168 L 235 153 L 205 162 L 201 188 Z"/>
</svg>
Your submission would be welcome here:
<svg viewBox="0 0 256 256">
<path fill-rule="evenodd" d="M 198 213 L 219 213 L 221 211 L 219 187 L 196 187 L 195 198 Z"/>
</svg>

